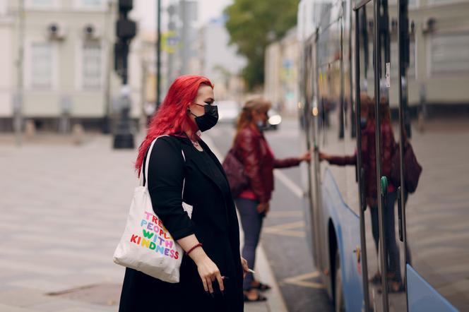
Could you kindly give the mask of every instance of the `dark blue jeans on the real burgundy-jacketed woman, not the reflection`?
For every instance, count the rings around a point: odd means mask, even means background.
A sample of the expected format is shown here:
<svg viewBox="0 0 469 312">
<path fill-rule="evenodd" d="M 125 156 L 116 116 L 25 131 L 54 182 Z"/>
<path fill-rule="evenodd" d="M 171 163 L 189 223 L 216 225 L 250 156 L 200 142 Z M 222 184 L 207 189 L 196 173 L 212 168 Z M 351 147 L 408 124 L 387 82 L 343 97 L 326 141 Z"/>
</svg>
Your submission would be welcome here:
<svg viewBox="0 0 469 312">
<path fill-rule="evenodd" d="M 241 225 L 244 232 L 244 245 L 242 256 L 247 260 L 249 268 L 254 270 L 254 262 L 256 261 L 256 248 L 261 236 L 261 228 L 264 214 L 257 212 L 259 201 L 246 198 L 236 198 L 236 207 L 241 217 Z M 252 273 L 247 273 L 243 281 L 243 289 L 251 289 L 251 283 L 254 280 Z"/>
</svg>

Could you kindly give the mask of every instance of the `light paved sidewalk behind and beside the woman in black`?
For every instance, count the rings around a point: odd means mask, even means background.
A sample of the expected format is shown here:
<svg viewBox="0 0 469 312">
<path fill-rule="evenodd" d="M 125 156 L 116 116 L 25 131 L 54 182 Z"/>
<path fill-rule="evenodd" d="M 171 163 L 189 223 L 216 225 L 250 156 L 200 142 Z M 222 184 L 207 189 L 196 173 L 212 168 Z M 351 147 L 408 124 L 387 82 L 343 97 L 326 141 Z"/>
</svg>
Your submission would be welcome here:
<svg viewBox="0 0 469 312">
<path fill-rule="evenodd" d="M 117 311 L 124 268 L 112 253 L 136 152 L 112 150 L 106 136 L 85 142 L 0 145 L 0 311 Z M 258 259 L 275 285 L 262 249 Z M 245 311 L 286 311 L 278 287 L 268 302 Z"/>
</svg>

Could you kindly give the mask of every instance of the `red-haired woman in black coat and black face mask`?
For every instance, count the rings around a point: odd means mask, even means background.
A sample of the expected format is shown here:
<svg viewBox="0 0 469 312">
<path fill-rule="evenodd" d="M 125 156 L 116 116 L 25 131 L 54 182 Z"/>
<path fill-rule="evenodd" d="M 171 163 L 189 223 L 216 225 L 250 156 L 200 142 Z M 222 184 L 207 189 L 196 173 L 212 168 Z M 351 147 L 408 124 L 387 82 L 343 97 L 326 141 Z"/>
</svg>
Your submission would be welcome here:
<svg viewBox="0 0 469 312">
<path fill-rule="evenodd" d="M 208 78 L 174 80 L 141 143 L 136 169 L 150 157 L 143 183 L 155 214 L 186 251 L 180 280 L 170 284 L 126 268 L 119 311 L 243 311 L 248 268 L 239 254 L 235 204 L 220 162 L 200 138 L 217 121 Z M 191 218 L 182 202 L 193 206 Z"/>
</svg>

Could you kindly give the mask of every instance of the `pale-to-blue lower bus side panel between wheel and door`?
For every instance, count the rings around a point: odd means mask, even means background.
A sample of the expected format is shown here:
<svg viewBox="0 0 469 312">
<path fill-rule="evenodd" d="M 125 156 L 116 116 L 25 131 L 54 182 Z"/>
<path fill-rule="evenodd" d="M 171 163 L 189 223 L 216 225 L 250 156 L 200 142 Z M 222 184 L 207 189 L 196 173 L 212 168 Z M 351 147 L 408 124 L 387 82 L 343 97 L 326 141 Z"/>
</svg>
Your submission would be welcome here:
<svg viewBox="0 0 469 312">
<path fill-rule="evenodd" d="M 357 252 L 355 252 L 360 247 L 360 219 L 345 205 L 329 170 L 326 170 L 324 174 L 322 193 L 325 215 L 331 218 L 336 231 L 345 308 L 346 311 L 361 311 L 363 302 L 362 271 Z M 327 234 L 324 236 L 328 239 Z"/>
</svg>

